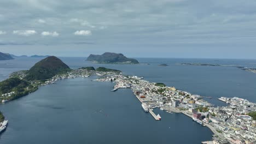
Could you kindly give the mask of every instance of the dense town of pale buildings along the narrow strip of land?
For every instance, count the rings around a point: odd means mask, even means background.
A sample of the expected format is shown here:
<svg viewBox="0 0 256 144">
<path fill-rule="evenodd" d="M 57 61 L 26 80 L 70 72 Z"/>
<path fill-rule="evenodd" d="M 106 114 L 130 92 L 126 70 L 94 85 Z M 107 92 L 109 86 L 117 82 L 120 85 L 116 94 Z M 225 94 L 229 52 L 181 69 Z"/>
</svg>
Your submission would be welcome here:
<svg viewBox="0 0 256 144">
<path fill-rule="evenodd" d="M 19 73 L 24 77 L 24 73 Z M 155 120 L 161 117 L 153 112 L 155 108 L 168 113 L 183 113 L 202 126 L 206 126 L 214 133 L 213 141 L 207 143 L 256 143 L 256 104 L 240 98 L 225 98 L 228 106 L 214 107 L 203 100 L 201 95 L 180 91 L 174 87 L 167 87 L 164 83 L 151 83 L 138 76 L 122 75 L 120 71 L 97 71 L 87 69 L 75 69 L 65 74 L 52 77 L 45 82 L 32 81 L 33 85 L 43 86 L 55 83 L 60 79 L 73 79 L 75 77 L 100 76 L 95 81 L 115 82 L 112 92 L 120 88 L 131 88 L 135 97 L 148 107 L 148 112 Z M 111 89 L 110 89 L 111 91 Z M 10 97 L 15 92 L 2 94 L 2 97 Z M 6 101 L 2 101 L 5 103 Z M 252 115 L 250 116 L 250 113 Z"/>
</svg>

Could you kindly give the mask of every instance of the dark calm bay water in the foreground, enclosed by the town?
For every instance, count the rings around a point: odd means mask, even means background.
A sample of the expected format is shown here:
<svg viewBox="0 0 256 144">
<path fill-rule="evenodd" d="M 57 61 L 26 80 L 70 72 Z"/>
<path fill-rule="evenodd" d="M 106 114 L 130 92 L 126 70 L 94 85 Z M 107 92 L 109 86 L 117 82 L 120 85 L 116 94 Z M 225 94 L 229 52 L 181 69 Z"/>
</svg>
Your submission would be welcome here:
<svg viewBox="0 0 256 144">
<path fill-rule="evenodd" d="M 112 83 L 91 81 L 95 78 L 60 80 L 1 105 L 9 119 L 1 143 L 200 143 L 211 139 L 210 129 L 182 114 L 155 110 L 163 117 L 155 121 L 130 89 L 110 92 Z"/>
</svg>

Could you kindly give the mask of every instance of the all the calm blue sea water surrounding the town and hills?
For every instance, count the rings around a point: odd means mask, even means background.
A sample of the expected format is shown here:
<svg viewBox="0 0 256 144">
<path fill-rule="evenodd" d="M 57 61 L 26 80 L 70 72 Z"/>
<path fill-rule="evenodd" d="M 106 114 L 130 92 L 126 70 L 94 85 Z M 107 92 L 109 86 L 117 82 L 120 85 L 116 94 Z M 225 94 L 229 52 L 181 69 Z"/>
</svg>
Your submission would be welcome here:
<svg viewBox="0 0 256 144">
<path fill-rule="evenodd" d="M 255 60 L 139 58 L 150 65 L 91 64 L 84 58 L 61 58 L 71 68 L 86 66 L 122 70 L 151 82 L 216 98 L 241 97 L 256 102 L 256 74 L 235 67 L 203 67 L 177 63 L 217 63 L 255 67 Z M 40 58 L 0 61 L 0 80 L 17 70 L 29 69 Z M 160 67 L 166 63 L 170 66 Z M 40 87 L 26 97 L 0 105 L 9 119 L 0 143 L 200 143 L 212 132 L 182 114 L 160 110 L 162 121 L 144 113 L 130 89 L 110 92 L 113 83 L 68 79 Z M 184 139 L 185 136 L 185 139 Z"/>
</svg>

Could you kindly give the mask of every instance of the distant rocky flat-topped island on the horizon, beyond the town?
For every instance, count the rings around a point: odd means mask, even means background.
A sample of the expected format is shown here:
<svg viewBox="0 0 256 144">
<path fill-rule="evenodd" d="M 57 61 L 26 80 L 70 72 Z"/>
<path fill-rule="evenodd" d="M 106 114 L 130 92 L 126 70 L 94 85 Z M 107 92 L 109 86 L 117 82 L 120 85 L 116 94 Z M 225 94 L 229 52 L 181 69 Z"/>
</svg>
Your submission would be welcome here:
<svg viewBox="0 0 256 144">
<path fill-rule="evenodd" d="M 138 64 L 139 62 L 133 58 L 127 58 L 121 53 L 105 52 L 102 55 L 90 55 L 87 61 L 95 63 L 109 63 L 109 64 Z"/>
</svg>

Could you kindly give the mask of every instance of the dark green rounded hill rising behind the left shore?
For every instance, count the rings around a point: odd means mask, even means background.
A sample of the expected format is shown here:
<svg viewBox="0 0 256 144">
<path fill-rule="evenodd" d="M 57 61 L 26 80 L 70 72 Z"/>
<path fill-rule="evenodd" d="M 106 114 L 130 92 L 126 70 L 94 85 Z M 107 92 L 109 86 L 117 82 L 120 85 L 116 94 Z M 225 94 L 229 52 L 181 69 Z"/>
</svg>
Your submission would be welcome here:
<svg viewBox="0 0 256 144">
<path fill-rule="evenodd" d="M 65 73 L 71 69 L 59 58 L 50 56 L 36 63 L 25 77 L 26 80 L 46 80 L 59 73 Z"/>
</svg>

